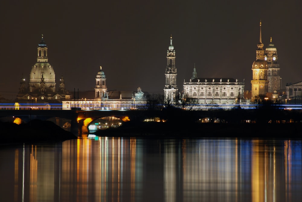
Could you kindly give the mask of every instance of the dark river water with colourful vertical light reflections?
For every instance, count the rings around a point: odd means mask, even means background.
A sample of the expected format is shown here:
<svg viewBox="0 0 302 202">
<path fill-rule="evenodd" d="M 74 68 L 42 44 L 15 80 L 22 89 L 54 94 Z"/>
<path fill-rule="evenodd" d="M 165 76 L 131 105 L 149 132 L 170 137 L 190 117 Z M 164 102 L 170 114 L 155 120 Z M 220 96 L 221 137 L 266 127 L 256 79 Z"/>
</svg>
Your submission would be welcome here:
<svg viewBox="0 0 302 202">
<path fill-rule="evenodd" d="M 0 201 L 302 201 L 301 147 L 135 137 L 1 146 Z"/>
</svg>

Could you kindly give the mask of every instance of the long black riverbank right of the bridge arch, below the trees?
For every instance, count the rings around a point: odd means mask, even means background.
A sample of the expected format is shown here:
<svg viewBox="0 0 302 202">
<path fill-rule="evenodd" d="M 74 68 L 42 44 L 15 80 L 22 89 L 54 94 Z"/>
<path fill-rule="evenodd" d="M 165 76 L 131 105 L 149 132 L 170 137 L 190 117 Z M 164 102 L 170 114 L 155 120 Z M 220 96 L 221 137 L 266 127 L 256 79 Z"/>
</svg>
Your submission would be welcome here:
<svg viewBox="0 0 302 202">
<path fill-rule="evenodd" d="M 295 138 L 301 139 L 301 123 L 124 123 L 99 130 L 97 136 L 199 137 L 199 138 Z"/>
</svg>

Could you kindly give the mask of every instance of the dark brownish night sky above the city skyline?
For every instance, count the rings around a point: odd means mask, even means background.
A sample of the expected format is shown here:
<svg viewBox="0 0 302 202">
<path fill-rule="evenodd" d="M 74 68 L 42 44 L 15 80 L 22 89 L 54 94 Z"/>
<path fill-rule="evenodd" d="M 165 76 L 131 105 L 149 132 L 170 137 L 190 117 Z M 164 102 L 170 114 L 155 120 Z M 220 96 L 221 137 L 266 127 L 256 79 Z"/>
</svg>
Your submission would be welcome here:
<svg viewBox="0 0 302 202">
<path fill-rule="evenodd" d="M 48 62 L 66 89 L 94 90 L 102 66 L 108 90 L 163 93 L 173 37 L 177 85 L 198 77 L 234 78 L 251 90 L 259 42 L 278 51 L 282 88 L 302 80 L 301 1 L 1 1 L 0 95 L 29 80 L 44 36 Z M 258 2 L 258 3 L 256 3 Z M 1 97 L 1 96 L 0 96 Z"/>
</svg>

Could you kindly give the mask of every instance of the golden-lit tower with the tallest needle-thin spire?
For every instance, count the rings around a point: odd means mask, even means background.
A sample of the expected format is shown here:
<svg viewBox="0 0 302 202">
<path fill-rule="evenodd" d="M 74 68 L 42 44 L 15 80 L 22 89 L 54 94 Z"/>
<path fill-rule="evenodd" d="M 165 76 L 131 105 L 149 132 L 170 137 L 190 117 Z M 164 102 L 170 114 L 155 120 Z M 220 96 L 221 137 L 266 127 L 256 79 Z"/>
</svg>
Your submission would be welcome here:
<svg viewBox="0 0 302 202">
<path fill-rule="evenodd" d="M 252 64 L 253 80 L 252 83 L 252 100 L 259 95 L 265 96 L 268 92 L 268 65 L 264 59 L 264 49 L 261 40 L 261 21 L 260 21 L 260 39 L 257 44 L 256 60 Z"/>
</svg>

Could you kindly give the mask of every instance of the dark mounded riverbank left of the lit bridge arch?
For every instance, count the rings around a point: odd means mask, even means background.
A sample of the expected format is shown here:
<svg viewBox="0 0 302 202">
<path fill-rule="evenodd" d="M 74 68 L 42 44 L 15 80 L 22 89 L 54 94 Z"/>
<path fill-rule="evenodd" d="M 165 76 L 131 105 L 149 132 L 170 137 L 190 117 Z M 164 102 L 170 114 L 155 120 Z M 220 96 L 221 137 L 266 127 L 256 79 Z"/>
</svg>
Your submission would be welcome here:
<svg viewBox="0 0 302 202">
<path fill-rule="evenodd" d="M 0 127 L 1 144 L 57 142 L 77 138 L 51 121 L 32 120 L 20 125 L 0 122 Z"/>
</svg>

